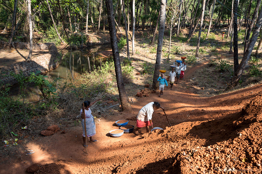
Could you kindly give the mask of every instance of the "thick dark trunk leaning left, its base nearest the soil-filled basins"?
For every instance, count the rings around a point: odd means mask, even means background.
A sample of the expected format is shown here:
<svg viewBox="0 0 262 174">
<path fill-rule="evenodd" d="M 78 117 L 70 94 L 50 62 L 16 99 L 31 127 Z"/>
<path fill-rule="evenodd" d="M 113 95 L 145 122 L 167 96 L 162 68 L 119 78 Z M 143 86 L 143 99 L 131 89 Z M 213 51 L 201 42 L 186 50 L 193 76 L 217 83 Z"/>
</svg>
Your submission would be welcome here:
<svg viewBox="0 0 262 174">
<path fill-rule="evenodd" d="M 114 58 L 115 72 L 116 72 L 116 83 L 119 92 L 119 98 L 121 102 L 122 110 L 132 111 L 130 103 L 125 92 L 124 81 L 121 70 L 121 63 L 118 52 L 118 45 L 116 39 L 116 26 L 114 22 L 114 10 L 112 0 L 106 1 L 107 15 L 108 15 L 108 27 L 111 40 L 112 53 Z"/>
</svg>

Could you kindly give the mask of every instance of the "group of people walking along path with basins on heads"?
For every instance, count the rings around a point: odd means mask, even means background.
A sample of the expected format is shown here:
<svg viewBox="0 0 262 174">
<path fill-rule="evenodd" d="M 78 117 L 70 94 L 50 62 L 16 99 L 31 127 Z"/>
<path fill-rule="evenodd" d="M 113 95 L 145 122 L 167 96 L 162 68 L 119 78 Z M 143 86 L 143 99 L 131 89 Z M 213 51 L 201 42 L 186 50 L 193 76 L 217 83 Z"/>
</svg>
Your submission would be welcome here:
<svg viewBox="0 0 262 174">
<path fill-rule="evenodd" d="M 176 62 L 174 62 L 174 65 L 176 64 Z M 184 79 L 184 75 L 185 75 L 185 71 L 187 70 L 187 65 L 185 63 L 185 61 L 183 60 L 182 63 L 178 63 L 176 68 L 172 68 L 172 71 L 170 71 L 169 76 L 167 77 L 167 79 L 165 78 L 164 73 L 161 73 L 161 76 L 158 77 L 157 81 L 159 81 L 159 90 L 160 90 L 160 94 L 159 97 L 161 95 L 163 95 L 163 90 L 165 85 L 168 86 L 167 81 L 169 81 L 170 89 L 172 90 L 173 88 L 173 84 L 176 81 L 176 84 L 178 83 L 178 79 Z"/>
</svg>

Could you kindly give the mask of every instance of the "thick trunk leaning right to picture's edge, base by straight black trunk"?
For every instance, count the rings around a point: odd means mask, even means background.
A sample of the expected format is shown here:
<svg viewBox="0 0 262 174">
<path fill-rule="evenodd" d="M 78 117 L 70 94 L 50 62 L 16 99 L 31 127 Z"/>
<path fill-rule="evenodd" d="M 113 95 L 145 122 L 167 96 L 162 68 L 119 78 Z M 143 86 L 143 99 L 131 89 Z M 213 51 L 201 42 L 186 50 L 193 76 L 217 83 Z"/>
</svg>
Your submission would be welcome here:
<svg viewBox="0 0 262 174">
<path fill-rule="evenodd" d="M 262 10 L 260 10 L 258 18 L 256 23 L 258 24 L 258 27 L 253 31 L 252 37 L 250 39 L 250 42 L 247 45 L 247 50 L 244 53 L 244 56 L 238 66 L 238 70 L 236 71 L 236 73 L 234 74 L 232 81 L 230 82 L 230 84 L 228 85 L 228 87 L 226 88 L 226 90 L 229 90 L 231 88 L 233 88 L 234 86 L 236 86 L 238 84 L 238 81 L 240 80 L 240 77 L 242 76 L 242 73 L 249 61 L 250 55 L 252 53 L 252 50 L 254 48 L 254 45 L 256 44 L 257 38 L 259 36 L 259 31 L 261 29 L 261 25 L 262 25 Z"/>
</svg>

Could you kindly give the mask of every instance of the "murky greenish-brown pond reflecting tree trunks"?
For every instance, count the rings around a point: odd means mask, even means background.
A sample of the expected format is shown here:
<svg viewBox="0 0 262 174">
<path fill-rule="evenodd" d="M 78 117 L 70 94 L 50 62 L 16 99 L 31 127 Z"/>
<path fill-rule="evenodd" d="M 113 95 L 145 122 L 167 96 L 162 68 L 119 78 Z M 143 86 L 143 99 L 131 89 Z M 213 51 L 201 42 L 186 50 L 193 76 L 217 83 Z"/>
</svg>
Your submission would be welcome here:
<svg viewBox="0 0 262 174">
<path fill-rule="evenodd" d="M 56 69 L 49 71 L 48 77 L 59 77 L 61 81 L 72 79 L 73 81 L 85 72 L 91 72 L 94 68 L 102 66 L 103 62 L 110 60 L 112 53 L 111 45 L 92 46 L 84 51 L 75 50 L 67 52 L 62 58 L 62 62 Z M 31 85 L 26 88 L 25 100 L 35 102 L 40 99 L 40 90 Z M 18 84 L 10 87 L 10 96 L 18 98 L 21 95 Z"/>
</svg>

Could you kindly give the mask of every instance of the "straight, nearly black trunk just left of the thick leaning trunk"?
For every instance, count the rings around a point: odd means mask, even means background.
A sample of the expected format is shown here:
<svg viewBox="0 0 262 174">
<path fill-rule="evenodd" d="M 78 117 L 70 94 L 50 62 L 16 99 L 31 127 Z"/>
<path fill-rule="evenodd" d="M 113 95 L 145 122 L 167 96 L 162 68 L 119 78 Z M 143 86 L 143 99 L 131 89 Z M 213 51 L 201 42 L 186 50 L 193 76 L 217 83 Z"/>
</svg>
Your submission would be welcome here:
<svg viewBox="0 0 262 174">
<path fill-rule="evenodd" d="M 234 12 L 238 12 L 238 0 L 234 0 Z M 234 32 L 234 73 L 238 69 L 238 15 L 234 15 L 233 20 L 233 32 Z"/>
</svg>

